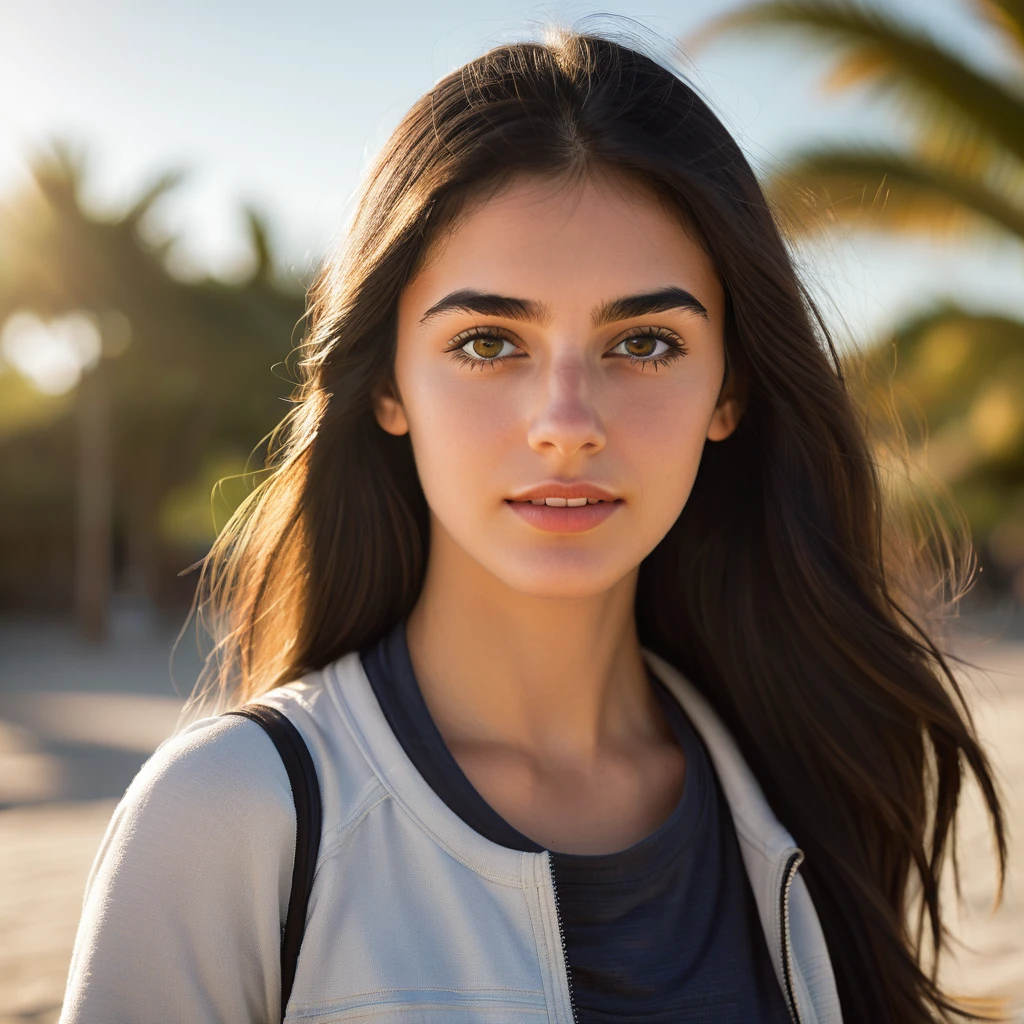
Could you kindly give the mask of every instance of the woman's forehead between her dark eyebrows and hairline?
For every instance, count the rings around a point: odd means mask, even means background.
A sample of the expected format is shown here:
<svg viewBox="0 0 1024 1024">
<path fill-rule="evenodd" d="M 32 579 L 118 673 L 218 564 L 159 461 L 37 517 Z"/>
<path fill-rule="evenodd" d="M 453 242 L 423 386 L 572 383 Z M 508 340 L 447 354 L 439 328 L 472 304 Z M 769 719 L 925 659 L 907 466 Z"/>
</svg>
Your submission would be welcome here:
<svg viewBox="0 0 1024 1024">
<path fill-rule="evenodd" d="M 677 212 L 622 175 L 519 176 L 467 204 L 399 299 L 399 318 L 455 289 L 515 295 L 574 311 L 678 286 L 720 313 L 714 266 Z"/>
</svg>

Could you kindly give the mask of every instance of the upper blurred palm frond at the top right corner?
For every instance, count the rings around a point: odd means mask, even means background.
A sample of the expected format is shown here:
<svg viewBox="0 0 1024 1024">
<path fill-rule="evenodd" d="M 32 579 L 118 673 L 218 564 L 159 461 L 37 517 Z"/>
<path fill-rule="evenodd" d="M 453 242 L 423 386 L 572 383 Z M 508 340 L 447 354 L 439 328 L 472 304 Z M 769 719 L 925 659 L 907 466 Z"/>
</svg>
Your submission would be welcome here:
<svg viewBox="0 0 1024 1024">
<path fill-rule="evenodd" d="M 985 2 L 1007 11 L 1021 6 L 1021 0 Z M 839 51 L 842 59 L 829 77 L 831 87 L 870 83 L 901 95 L 929 120 L 940 111 L 966 122 L 1024 161 L 1024 94 L 972 68 L 879 4 L 765 0 L 715 18 L 686 45 L 693 49 L 727 34 L 771 30 L 802 34 Z"/>
</svg>

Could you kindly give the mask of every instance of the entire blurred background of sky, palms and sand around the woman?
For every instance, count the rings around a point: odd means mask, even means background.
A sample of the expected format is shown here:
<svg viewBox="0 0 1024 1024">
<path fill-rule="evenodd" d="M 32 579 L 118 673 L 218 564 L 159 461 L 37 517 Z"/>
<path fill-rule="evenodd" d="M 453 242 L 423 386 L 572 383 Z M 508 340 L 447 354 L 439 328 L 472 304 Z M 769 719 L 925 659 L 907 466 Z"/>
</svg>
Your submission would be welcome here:
<svg viewBox="0 0 1024 1024">
<path fill-rule="evenodd" d="M 56 1020 L 103 828 L 199 671 L 182 572 L 286 411 L 360 172 L 550 20 L 681 62 L 897 410 L 902 485 L 967 517 L 954 646 L 1022 830 L 1022 0 L 0 0 L 0 1024 Z M 993 914 L 976 802 L 961 842 L 947 983 L 1024 1020 L 1021 851 Z"/>
</svg>

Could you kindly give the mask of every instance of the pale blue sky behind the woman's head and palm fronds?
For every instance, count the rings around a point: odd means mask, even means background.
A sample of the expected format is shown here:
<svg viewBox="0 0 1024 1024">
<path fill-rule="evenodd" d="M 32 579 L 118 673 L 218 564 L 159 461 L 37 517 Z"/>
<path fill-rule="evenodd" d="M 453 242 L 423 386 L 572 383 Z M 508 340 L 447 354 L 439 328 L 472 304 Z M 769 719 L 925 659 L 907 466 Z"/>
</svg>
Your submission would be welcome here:
<svg viewBox="0 0 1024 1024">
<path fill-rule="evenodd" d="M 290 3 L 239 0 L 0 0 L 0 195 L 54 136 L 90 155 L 89 202 L 117 209 L 169 168 L 189 172 L 156 211 L 180 240 L 183 273 L 241 272 L 243 203 L 269 219 L 303 280 L 342 229 L 360 172 L 409 105 L 488 46 L 546 20 L 630 15 L 666 43 L 732 0 L 523 4 L 480 0 Z M 888 0 L 970 59 L 1006 59 L 965 2 Z M 590 25 L 626 27 L 596 20 Z M 780 39 L 715 43 L 691 81 L 759 167 L 806 141 L 898 138 L 884 103 L 824 97 L 827 60 Z M 807 271 L 858 337 L 943 295 L 1024 315 L 1012 246 L 838 240 Z"/>
</svg>

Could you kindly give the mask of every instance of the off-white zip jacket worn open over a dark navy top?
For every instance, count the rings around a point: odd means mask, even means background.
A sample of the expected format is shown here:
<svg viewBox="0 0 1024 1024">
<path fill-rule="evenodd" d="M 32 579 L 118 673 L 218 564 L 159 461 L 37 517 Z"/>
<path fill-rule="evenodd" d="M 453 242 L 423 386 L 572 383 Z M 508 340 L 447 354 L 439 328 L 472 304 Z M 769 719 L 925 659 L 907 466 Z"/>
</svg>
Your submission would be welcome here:
<svg viewBox="0 0 1024 1024">
<path fill-rule="evenodd" d="M 703 738 L 798 1024 L 841 1024 L 803 854 L 731 736 L 665 660 Z M 549 854 L 499 846 L 430 788 L 348 654 L 263 694 L 319 776 L 324 830 L 287 1020 L 573 1024 Z M 166 740 L 118 805 L 86 886 L 60 1024 L 281 1019 L 295 849 L 285 767 L 244 718 Z"/>
</svg>

